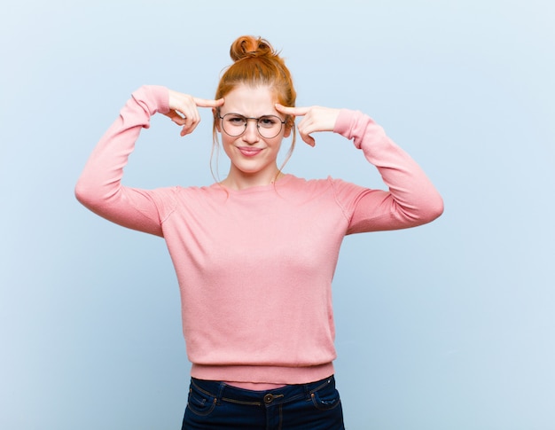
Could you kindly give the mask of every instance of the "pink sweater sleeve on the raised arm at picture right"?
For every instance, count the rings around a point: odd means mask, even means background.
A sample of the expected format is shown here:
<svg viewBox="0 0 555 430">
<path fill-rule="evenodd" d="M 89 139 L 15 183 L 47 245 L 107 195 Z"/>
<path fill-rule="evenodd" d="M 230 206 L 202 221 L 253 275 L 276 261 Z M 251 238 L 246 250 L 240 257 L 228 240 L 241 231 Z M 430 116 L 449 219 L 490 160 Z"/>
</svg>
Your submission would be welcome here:
<svg viewBox="0 0 555 430">
<path fill-rule="evenodd" d="M 353 139 L 366 160 L 378 168 L 388 188 L 357 193 L 348 211 L 348 234 L 415 227 L 442 215 L 443 200 L 434 184 L 369 116 L 343 109 L 334 132 Z"/>
</svg>

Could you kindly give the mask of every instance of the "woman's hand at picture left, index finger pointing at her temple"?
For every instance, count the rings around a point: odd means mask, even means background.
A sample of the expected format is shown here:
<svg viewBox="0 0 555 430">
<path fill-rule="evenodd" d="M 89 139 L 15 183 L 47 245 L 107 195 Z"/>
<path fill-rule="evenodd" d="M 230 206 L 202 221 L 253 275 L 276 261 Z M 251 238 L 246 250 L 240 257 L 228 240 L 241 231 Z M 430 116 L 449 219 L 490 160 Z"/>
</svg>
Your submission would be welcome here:
<svg viewBox="0 0 555 430">
<path fill-rule="evenodd" d="M 199 107 L 219 107 L 223 105 L 223 98 L 219 100 L 208 100 L 206 98 L 196 98 L 189 94 L 169 91 L 169 112 L 164 113 L 171 121 L 183 126 L 181 136 L 188 135 L 199 125 Z"/>
</svg>

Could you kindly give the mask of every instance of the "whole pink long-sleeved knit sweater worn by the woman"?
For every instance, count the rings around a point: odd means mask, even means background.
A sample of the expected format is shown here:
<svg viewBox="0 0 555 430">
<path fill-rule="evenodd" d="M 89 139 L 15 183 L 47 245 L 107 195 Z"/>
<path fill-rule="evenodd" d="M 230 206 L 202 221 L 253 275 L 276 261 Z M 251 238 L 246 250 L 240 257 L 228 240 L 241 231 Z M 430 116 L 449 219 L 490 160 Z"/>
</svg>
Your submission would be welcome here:
<svg viewBox="0 0 555 430">
<path fill-rule="evenodd" d="M 332 278 L 343 237 L 434 220 L 443 210 L 434 185 L 371 118 L 342 110 L 334 131 L 362 149 L 388 192 L 293 175 L 242 191 L 122 186 L 129 153 L 157 112 L 168 112 L 167 89 L 135 91 L 75 193 L 96 214 L 166 240 L 192 376 L 272 384 L 330 376 Z"/>
</svg>

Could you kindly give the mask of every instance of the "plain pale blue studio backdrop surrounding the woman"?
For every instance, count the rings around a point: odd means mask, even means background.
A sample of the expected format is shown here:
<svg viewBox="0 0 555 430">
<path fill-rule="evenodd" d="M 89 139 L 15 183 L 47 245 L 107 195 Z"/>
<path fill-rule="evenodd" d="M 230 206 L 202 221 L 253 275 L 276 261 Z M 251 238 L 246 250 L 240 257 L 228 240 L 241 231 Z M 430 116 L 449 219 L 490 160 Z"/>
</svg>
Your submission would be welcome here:
<svg viewBox="0 0 555 430">
<path fill-rule="evenodd" d="M 348 429 L 555 428 L 554 18 L 548 0 L 4 4 L 0 427 L 179 428 L 189 364 L 168 252 L 81 207 L 74 184 L 131 91 L 212 98 L 252 34 L 282 51 L 298 106 L 369 113 L 445 200 L 434 223 L 344 242 Z M 202 115 L 185 138 L 155 117 L 125 183 L 211 184 Z M 316 137 L 287 172 L 382 186 L 353 145 Z"/>
</svg>

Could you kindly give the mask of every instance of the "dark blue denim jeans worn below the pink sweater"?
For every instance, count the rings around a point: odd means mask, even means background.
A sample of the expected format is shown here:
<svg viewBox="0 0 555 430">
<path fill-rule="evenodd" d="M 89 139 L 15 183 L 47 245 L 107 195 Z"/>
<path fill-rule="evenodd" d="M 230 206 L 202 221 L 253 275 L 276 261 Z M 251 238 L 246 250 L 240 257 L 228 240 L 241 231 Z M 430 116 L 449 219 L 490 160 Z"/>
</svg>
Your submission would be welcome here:
<svg viewBox="0 0 555 430">
<path fill-rule="evenodd" d="M 333 376 L 268 391 L 191 379 L 182 430 L 343 430 Z"/>
</svg>

